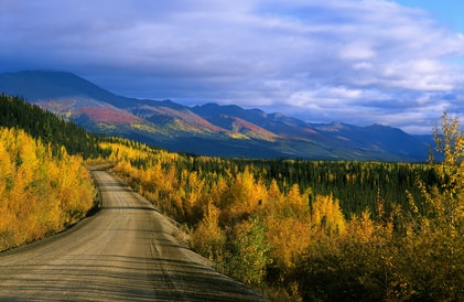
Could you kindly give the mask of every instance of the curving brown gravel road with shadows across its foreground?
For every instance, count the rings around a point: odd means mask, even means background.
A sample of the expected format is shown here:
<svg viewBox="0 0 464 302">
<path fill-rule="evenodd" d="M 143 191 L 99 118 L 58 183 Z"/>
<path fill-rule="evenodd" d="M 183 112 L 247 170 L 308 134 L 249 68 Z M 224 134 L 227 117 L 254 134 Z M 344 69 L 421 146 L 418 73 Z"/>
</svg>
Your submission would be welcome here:
<svg viewBox="0 0 464 302">
<path fill-rule="evenodd" d="M 102 207 L 72 229 L 0 254 L 1 301 L 263 301 L 180 245 L 174 226 L 105 171 Z"/>
</svg>

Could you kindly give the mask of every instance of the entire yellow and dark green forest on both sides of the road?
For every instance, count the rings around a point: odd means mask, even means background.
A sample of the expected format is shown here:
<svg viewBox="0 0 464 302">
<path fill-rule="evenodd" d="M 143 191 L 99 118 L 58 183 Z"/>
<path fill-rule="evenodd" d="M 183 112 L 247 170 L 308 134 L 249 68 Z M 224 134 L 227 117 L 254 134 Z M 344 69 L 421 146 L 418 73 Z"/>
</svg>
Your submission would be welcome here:
<svg viewBox="0 0 464 302">
<path fill-rule="evenodd" d="M 28 128 L 25 104 L 0 99 L 12 106 L 0 115 L 18 115 L 0 128 L 0 249 L 84 217 L 96 194 L 86 166 L 106 163 L 180 224 L 184 245 L 270 300 L 464 300 L 455 116 L 434 129 L 440 162 L 222 159 L 94 137 L 43 111 L 48 126 Z M 65 127 L 68 138 L 51 139 Z"/>
</svg>

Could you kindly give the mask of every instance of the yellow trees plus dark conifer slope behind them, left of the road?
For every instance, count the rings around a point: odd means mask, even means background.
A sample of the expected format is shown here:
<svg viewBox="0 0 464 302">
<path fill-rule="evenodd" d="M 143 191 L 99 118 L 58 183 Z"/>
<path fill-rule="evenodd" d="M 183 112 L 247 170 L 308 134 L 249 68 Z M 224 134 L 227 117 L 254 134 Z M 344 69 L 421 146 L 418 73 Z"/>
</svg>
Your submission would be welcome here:
<svg viewBox="0 0 464 302">
<path fill-rule="evenodd" d="M 85 217 L 96 188 L 83 154 L 99 150 L 96 138 L 74 123 L 0 95 L 0 250 Z"/>
</svg>

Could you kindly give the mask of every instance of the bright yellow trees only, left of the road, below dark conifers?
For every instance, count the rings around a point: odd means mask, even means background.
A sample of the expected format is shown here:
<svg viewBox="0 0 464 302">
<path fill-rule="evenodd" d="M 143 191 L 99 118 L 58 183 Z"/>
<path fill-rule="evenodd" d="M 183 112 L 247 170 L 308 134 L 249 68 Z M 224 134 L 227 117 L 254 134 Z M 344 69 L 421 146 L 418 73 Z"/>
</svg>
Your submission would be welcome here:
<svg viewBox="0 0 464 302">
<path fill-rule="evenodd" d="M 53 157 L 22 130 L 0 129 L 0 250 L 82 218 L 96 191 L 79 157 Z"/>
</svg>

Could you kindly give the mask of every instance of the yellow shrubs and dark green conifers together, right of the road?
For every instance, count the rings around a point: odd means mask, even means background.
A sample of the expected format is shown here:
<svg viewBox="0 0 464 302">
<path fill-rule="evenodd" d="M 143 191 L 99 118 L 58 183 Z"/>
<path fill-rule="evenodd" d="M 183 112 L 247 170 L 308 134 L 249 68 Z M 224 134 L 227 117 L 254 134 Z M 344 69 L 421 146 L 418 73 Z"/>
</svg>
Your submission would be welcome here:
<svg viewBox="0 0 464 302">
<path fill-rule="evenodd" d="M 108 141 L 114 171 L 190 246 L 276 301 L 462 301 L 463 133 L 440 163 L 248 161 Z"/>
</svg>

